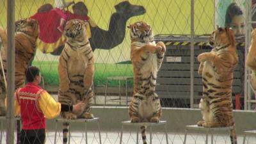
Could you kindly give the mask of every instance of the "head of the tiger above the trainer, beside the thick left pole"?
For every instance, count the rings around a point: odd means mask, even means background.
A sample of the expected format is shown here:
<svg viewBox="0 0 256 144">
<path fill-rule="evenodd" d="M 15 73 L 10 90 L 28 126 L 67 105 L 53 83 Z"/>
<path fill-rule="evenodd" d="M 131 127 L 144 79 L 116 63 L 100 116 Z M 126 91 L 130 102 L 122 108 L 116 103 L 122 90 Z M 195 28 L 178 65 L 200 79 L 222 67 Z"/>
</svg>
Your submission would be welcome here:
<svg viewBox="0 0 256 144">
<path fill-rule="evenodd" d="M 36 38 L 39 33 L 38 21 L 30 18 L 18 20 L 15 22 L 15 32 L 26 33 Z"/>
</svg>

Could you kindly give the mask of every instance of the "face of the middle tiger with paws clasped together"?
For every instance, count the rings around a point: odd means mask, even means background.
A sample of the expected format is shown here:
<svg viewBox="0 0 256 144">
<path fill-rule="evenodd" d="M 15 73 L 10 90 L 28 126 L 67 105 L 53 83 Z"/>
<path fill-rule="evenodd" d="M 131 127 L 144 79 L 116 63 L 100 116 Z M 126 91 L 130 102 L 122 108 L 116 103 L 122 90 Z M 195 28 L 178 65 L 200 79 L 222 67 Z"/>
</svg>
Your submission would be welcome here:
<svg viewBox="0 0 256 144">
<path fill-rule="evenodd" d="M 152 29 L 146 22 L 135 22 L 134 24 L 127 26 L 127 28 L 130 29 L 132 41 L 148 43 L 154 40 Z"/>
</svg>

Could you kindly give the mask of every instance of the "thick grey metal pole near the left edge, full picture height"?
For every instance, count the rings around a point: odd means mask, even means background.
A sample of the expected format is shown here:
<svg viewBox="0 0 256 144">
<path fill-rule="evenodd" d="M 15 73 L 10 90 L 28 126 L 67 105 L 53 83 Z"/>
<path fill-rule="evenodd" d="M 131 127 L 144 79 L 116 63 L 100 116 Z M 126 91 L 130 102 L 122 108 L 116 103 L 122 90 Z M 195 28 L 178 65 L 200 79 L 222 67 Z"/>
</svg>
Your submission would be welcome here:
<svg viewBox="0 0 256 144">
<path fill-rule="evenodd" d="M 14 144 L 15 0 L 7 2 L 7 114 L 6 143 Z"/>
</svg>

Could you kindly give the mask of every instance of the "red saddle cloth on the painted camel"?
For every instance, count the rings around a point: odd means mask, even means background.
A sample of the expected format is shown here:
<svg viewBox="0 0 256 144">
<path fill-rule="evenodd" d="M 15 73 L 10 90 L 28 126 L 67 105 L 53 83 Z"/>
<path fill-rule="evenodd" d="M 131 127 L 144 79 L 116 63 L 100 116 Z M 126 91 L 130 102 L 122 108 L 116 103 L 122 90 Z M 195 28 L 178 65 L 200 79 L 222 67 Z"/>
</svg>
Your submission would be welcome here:
<svg viewBox="0 0 256 144">
<path fill-rule="evenodd" d="M 89 20 L 90 18 L 86 16 L 79 16 L 74 13 L 66 11 L 62 13 L 66 14 L 67 20 L 71 19 L 81 19 Z M 32 19 L 35 19 L 39 23 L 40 33 L 38 38 L 47 44 L 55 43 L 61 38 L 61 32 L 57 29 L 60 26 L 60 19 L 63 17 L 58 12 L 58 9 L 54 8 L 49 12 L 36 13 L 31 16 Z"/>
</svg>

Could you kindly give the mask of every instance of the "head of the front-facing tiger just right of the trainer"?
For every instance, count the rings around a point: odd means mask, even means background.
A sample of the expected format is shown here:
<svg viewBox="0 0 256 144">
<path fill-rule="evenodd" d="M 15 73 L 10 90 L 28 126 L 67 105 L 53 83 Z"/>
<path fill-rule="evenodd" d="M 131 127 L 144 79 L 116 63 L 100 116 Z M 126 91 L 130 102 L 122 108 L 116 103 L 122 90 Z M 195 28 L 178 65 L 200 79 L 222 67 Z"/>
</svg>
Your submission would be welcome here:
<svg viewBox="0 0 256 144">
<path fill-rule="evenodd" d="M 88 39 L 86 36 L 86 24 L 88 24 L 88 22 L 84 22 L 80 19 L 69 20 L 64 28 L 63 34 L 67 39 Z"/>
</svg>

